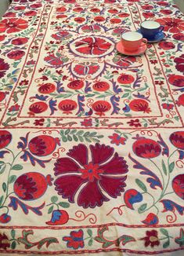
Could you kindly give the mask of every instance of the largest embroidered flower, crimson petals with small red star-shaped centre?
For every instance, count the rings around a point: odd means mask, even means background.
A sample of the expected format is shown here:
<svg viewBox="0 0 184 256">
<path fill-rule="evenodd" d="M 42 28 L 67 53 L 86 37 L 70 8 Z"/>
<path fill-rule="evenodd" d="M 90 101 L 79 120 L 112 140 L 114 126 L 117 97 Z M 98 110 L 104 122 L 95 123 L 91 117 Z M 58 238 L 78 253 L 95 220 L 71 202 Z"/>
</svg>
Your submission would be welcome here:
<svg viewBox="0 0 184 256">
<path fill-rule="evenodd" d="M 61 175 L 54 183 L 58 194 L 74 203 L 80 190 L 77 202 L 84 208 L 100 207 L 109 201 L 103 191 L 113 198 L 121 196 L 126 186 L 124 174 L 128 172 L 126 161 L 114 154 L 114 148 L 105 144 L 91 144 L 89 148 L 91 162 L 88 162 L 88 148 L 85 144 L 78 144 L 69 150 L 69 157 L 57 159 L 54 168 L 55 175 Z M 81 188 L 81 185 L 84 186 Z"/>
</svg>

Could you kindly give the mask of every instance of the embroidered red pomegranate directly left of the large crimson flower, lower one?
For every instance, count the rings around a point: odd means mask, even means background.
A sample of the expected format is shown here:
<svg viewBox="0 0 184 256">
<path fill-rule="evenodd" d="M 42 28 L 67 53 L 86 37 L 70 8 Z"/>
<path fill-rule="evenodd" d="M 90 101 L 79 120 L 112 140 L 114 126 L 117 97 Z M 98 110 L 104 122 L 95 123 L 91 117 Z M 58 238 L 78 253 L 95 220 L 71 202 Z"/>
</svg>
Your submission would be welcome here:
<svg viewBox="0 0 184 256">
<path fill-rule="evenodd" d="M 52 177 L 38 172 L 22 174 L 14 183 L 16 196 L 23 200 L 35 200 L 43 196 L 48 185 L 52 185 Z"/>
</svg>

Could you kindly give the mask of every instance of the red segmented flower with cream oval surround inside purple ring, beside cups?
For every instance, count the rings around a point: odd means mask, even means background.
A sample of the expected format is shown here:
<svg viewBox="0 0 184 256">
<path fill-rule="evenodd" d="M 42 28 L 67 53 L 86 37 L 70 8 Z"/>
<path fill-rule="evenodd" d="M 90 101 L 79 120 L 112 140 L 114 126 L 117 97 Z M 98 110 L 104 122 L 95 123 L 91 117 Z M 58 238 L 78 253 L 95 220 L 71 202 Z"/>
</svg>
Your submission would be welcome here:
<svg viewBox="0 0 184 256">
<path fill-rule="evenodd" d="M 70 50 L 80 57 L 103 57 L 114 50 L 114 42 L 100 36 L 81 37 L 70 42 Z"/>
</svg>

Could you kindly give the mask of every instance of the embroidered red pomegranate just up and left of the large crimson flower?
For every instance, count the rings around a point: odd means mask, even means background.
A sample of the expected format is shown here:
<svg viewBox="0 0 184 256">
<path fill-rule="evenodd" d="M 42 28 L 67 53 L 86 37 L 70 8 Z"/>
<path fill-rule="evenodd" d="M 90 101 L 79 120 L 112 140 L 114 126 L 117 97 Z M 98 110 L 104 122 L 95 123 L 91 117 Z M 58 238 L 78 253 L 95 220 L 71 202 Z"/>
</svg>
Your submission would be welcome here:
<svg viewBox="0 0 184 256">
<path fill-rule="evenodd" d="M 38 135 L 31 139 L 28 148 L 33 155 L 45 156 L 52 154 L 57 144 L 60 145 L 60 139 L 58 137 Z"/>
</svg>

